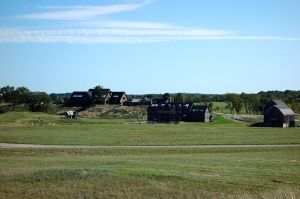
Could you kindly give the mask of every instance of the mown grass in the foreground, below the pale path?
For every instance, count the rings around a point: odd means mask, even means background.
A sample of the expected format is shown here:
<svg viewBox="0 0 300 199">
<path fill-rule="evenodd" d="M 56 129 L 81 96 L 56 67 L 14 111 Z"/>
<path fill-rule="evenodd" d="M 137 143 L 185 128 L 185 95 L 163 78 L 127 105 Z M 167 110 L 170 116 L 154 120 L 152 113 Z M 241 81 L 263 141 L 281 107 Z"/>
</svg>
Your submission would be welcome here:
<svg viewBox="0 0 300 199">
<path fill-rule="evenodd" d="M 0 149 L 2 198 L 298 198 L 300 147 Z"/>
</svg>

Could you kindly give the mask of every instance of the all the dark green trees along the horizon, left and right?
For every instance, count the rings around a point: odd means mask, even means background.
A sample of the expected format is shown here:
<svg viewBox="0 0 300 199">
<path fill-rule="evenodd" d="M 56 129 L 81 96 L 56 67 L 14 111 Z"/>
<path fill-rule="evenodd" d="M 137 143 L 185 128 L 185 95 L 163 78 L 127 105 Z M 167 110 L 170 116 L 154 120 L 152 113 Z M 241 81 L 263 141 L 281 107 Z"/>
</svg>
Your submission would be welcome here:
<svg viewBox="0 0 300 199">
<path fill-rule="evenodd" d="M 95 86 L 95 96 L 93 104 L 102 104 L 105 92 L 102 86 Z M 5 86 L 0 88 L 0 101 L 10 103 L 15 110 L 19 104 L 24 104 L 30 111 L 47 111 L 51 102 L 67 102 L 67 94 L 50 94 L 46 92 L 33 92 L 26 87 L 15 88 Z M 136 95 L 135 95 L 136 96 Z M 300 113 L 300 91 L 266 91 L 256 94 L 247 93 L 227 93 L 227 94 L 194 94 L 194 93 L 165 93 L 140 95 L 152 98 L 154 102 L 173 101 L 178 103 L 202 103 L 213 107 L 213 102 L 226 102 L 226 109 L 237 114 L 245 110 L 246 114 L 263 114 L 265 104 L 272 99 L 280 99 L 288 104 L 295 112 Z M 216 110 L 217 111 L 217 110 Z"/>
</svg>

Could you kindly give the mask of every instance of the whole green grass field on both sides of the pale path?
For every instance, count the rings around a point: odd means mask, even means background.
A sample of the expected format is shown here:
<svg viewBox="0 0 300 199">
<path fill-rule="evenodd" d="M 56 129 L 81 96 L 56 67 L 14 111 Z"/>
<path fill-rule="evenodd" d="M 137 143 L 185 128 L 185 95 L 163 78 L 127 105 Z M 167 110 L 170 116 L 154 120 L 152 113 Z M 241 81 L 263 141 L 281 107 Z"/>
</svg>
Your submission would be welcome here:
<svg viewBox="0 0 300 199">
<path fill-rule="evenodd" d="M 15 112 L 0 142 L 70 145 L 299 144 L 299 128 L 138 124 Z M 0 198 L 300 198 L 300 147 L 0 148 Z"/>
</svg>

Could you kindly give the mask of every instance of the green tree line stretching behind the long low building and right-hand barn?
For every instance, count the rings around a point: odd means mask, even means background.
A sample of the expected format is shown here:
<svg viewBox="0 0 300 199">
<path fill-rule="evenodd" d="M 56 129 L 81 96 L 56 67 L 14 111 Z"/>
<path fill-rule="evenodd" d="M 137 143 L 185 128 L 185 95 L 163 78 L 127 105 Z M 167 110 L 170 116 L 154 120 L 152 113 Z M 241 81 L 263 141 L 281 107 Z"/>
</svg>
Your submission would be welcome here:
<svg viewBox="0 0 300 199">
<path fill-rule="evenodd" d="M 295 112 L 300 113 L 300 91 L 267 91 L 256 94 L 227 93 L 223 95 L 165 93 L 163 95 L 148 94 L 146 96 L 178 103 L 201 103 L 211 108 L 217 108 L 213 107 L 213 102 L 225 102 L 225 108 L 237 114 L 240 114 L 243 109 L 246 114 L 263 114 L 267 102 L 280 99 L 288 104 Z"/>
</svg>

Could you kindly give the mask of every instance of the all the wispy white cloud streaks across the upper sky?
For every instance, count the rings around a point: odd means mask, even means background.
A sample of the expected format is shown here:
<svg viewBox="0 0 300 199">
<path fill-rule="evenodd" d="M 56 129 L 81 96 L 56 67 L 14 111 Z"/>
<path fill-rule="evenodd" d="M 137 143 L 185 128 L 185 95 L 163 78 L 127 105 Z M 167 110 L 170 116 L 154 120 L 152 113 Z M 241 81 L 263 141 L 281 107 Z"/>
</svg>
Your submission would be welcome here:
<svg viewBox="0 0 300 199">
<path fill-rule="evenodd" d="M 18 19 L 54 20 L 52 28 L 0 27 L 0 43 L 152 43 L 183 40 L 285 40 L 300 38 L 239 35 L 233 31 L 176 26 L 159 22 L 99 19 L 98 16 L 139 9 L 152 2 L 106 6 L 47 6 L 44 12 L 18 16 Z M 46 10 L 46 11 L 45 11 Z M 59 28 L 57 21 L 62 21 Z M 53 24 L 53 23 L 52 23 Z"/>
</svg>

